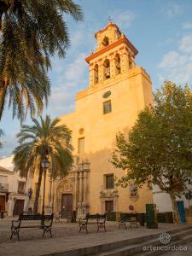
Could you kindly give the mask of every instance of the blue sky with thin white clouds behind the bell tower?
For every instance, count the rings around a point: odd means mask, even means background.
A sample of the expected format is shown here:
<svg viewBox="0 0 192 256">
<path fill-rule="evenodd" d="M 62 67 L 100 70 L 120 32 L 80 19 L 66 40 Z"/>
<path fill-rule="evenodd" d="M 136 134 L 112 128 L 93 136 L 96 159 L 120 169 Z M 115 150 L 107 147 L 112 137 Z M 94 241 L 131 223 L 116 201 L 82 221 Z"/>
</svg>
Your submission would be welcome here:
<svg viewBox="0 0 192 256">
<path fill-rule="evenodd" d="M 95 32 L 106 26 L 108 16 L 136 46 L 138 66 L 151 76 L 154 90 L 171 79 L 192 84 L 192 1 L 191 0 L 74 0 L 82 6 L 84 21 L 66 16 L 71 47 L 64 60 L 54 58 L 49 79 L 52 93 L 44 114 L 51 117 L 73 111 L 75 93 L 88 86 L 89 72 L 84 57 L 96 48 Z M 26 119 L 30 124 L 30 118 Z M 20 121 L 6 109 L 0 123 L 5 136 L 0 157 L 9 156 L 16 146 Z"/>
</svg>

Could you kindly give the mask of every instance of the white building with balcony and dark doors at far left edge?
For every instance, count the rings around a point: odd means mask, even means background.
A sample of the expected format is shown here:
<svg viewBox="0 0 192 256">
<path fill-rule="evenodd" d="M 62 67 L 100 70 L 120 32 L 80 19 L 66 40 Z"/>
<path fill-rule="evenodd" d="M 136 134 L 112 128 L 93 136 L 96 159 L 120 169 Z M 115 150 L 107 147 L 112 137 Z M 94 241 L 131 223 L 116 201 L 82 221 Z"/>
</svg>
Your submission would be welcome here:
<svg viewBox="0 0 192 256">
<path fill-rule="evenodd" d="M 32 183 L 31 178 L 15 172 L 12 160 L 13 156 L 0 159 L 0 211 L 9 217 L 28 210 Z"/>
</svg>

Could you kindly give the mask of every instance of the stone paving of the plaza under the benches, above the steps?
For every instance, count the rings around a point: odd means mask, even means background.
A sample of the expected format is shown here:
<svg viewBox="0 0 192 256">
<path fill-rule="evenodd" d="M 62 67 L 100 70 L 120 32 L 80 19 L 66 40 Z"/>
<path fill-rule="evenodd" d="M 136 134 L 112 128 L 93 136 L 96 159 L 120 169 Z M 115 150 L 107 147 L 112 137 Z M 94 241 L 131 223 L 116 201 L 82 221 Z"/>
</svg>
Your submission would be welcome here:
<svg viewBox="0 0 192 256">
<path fill-rule="evenodd" d="M 49 238 L 49 235 L 43 238 L 42 230 L 24 229 L 20 230 L 20 241 L 11 241 L 10 224 L 10 219 L 0 221 L 0 256 L 40 256 L 160 233 L 179 225 L 160 224 L 158 230 L 148 230 L 145 227 L 119 230 L 116 222 L 108 222 L 108 232 L 96 232 L 96 225 L 90 225 L 88 234 L 79 234 L 79 224 L 54 223 L 53 238 Z"/>
</svg>

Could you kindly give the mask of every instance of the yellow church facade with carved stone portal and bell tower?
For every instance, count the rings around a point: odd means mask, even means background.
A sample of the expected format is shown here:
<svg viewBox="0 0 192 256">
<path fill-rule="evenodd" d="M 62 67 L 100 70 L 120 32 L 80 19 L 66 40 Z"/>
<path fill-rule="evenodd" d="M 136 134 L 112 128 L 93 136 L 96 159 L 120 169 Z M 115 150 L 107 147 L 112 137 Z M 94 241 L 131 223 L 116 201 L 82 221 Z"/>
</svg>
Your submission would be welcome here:
<svg viewBox="0 0 192 256">
<path fill-rule="evenodd" d="M 109 22 L 96 32 L 96 40 L 96 51 L 85 59 L 90 84 L 76 95 L 74 112 L 60 117 L 73 131 L 74 166 L 64 179 L 52 181 L 48 175 L 45 206 L 54 212 L 70 208 L 79 217 L 87 212 L 130 212 L 130 206 L 145 212 L 145 204 L 153 203 L 152 190 L 147 185 L 113 186 L 113 179 L 125 171 L 115 169 L 110 158 L 116 133 L 128 132 L 139 111 L 152 103 L 151 80 L 136 66 L 137 49 L 118 26 Z M 37 177 L 33 189 L 35 183 Z"/>
</svg>

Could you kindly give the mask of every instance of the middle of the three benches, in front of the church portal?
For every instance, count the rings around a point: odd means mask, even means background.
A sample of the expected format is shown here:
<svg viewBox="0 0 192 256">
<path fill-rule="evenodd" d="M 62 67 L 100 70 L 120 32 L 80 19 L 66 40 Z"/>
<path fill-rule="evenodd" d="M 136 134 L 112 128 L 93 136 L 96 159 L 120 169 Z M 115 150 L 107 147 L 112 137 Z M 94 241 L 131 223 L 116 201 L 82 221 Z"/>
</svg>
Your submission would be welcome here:
<svg viewBox="0 0 192 256">
<path fill-rule="evenodd" d="M 88 213 L 86 214 L 85 218 L 79 219 L 79 232 L 81 232 L 81 230 L 86 230 L 86 232 L 88 233 L 87 226 L 90 224 L 96 224 L 97 232 L 102 228 L 105 231 L 107 231 L 105 227 L 105 222 L 106 222 L 106 214 L 97 213 L 93 215 Z"/>
</svg>

